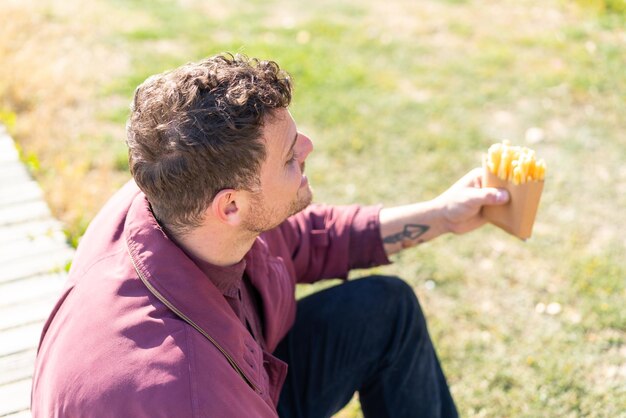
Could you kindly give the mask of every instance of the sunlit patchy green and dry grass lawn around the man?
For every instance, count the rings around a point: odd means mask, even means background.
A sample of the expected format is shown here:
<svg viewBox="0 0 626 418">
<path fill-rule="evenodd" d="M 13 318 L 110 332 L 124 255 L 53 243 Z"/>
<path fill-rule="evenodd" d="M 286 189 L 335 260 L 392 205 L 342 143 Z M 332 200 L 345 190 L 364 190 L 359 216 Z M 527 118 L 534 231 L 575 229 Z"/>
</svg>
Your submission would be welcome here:
<svg viewBox="0 0 626 418">
<path fill-rule="evenodd" d="M 317 201 L 430 199 L 490 144 L 530 146 L 548 165 L 530 240 L 487 226 L 378 271 L 414 286 L 463 416 L 624 417 L 625 10 L 623 0 L 9 0 L 0 120 L 74 245 L 129 178 L 134 88 L 222 51 L 293 75 Z M 338 416 L 360 417 L 358 403 Z"/>
</svg>

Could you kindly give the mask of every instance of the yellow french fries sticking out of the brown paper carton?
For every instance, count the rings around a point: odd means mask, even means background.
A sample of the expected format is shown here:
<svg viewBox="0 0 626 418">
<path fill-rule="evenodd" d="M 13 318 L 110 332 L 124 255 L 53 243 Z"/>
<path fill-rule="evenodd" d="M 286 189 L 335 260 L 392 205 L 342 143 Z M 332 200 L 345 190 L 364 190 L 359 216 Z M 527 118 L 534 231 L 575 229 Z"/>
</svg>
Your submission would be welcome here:
<svg viewBox="0 0 626 418">
<path fill-rule="evenodd" d="M 546 163 L 537 160 L 535 151 L 526 147 L 513 146 L 509 141 L 493 144 L 487 151 L 486 166 L 493 174 L 515 185 L 531 181 L 543 181 Z"/>
</svg>

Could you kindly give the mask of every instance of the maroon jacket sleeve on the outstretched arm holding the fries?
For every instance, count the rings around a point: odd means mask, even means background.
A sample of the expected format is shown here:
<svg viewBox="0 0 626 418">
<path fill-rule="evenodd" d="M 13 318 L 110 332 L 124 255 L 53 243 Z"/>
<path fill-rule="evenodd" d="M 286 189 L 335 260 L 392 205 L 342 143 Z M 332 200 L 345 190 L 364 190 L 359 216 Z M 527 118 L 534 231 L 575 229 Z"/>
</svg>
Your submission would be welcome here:
<svg viewBox="0 0 626 418">
<path fill-rule="evenodd" d="M 380 237 L 381 206 L 311 205 L 281 232 L 300 283 L 347 278 L 353 268 L 388 264 Z"/>
</svg>

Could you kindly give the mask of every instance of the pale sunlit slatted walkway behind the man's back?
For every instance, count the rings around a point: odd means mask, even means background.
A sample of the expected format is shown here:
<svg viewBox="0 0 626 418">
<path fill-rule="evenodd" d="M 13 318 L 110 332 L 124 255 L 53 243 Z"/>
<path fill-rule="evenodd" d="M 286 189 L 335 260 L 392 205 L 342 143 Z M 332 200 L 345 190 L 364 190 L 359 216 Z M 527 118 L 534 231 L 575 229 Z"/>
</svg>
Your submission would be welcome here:
<svg viewBox="0 0 626 418">
<path fill-rule="evenodd" d="M 39 336 L 73 253 L 0 125 L 0 417 L 30 417 Z"/>
</svg>

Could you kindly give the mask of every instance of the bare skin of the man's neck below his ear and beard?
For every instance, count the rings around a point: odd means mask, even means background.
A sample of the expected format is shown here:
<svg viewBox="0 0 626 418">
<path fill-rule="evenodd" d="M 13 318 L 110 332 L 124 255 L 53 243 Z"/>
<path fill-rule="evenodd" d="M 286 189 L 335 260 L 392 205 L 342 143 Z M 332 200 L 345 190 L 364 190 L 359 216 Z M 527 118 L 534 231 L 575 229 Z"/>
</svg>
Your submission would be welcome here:
<svg viewBox="0 0 626 418">
<path fill-rule="evenodd" d="M 188 254 L 215 266 L 232 266 L 250 251 L 258 235 L 203 225 L 173 237 Z"/>
</svg>

